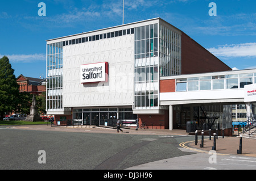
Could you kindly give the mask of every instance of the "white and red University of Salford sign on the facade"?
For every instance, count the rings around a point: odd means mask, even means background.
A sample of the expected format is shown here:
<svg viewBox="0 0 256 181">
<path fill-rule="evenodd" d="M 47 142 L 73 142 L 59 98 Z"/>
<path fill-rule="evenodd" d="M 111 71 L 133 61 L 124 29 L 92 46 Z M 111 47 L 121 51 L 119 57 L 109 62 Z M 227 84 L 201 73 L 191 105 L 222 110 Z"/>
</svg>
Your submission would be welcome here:
<svg viewBox="0 0 256 181">
<path fill-rule="evenodd" d="M 84 64 L 80 66 L 80 82 L 108 82 L 108 62 Z"/>
</svg>

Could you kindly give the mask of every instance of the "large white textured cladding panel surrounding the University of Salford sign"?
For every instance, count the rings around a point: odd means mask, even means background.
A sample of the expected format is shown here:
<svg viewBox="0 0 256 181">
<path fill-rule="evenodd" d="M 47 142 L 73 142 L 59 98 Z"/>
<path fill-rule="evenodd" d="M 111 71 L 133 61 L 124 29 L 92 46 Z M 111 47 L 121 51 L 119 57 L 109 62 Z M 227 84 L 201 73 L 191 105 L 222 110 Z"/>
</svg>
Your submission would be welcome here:
<svg viewBox="0 0 256 181">
<path fill-rule="evenodd" d="M 109 63 L 108 82 L 80 83 L 80 66 Z M 63 107 L 131 106 L 134 35 L 63 47 Z"/>
</svg>

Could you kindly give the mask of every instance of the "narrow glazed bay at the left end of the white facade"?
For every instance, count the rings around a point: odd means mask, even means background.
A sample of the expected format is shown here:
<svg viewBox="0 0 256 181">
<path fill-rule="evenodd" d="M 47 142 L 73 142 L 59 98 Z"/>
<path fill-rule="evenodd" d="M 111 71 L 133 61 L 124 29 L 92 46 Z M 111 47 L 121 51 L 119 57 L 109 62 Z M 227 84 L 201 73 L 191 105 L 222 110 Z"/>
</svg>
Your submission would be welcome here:
<svg viewBox="0 0 256 181">
<path fill-rule="evenodd" d="M 47 111 L 63 110 L 63 42 L 47 45 Z"/>
</svg>

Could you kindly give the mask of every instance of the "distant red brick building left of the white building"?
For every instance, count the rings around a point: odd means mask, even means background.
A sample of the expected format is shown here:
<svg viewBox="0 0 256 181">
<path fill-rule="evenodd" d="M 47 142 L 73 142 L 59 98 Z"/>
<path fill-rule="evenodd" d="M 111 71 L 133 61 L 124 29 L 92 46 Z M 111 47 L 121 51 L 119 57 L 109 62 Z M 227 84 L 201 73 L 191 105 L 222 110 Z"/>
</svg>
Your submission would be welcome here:
<svg viewBox="0 0 256 181">
<path fill-rule="evenodd" d="M 31 94 L 41 95 L 46 92 L 46 79 L 25 77 L 20 74 L 16 79 L 20 92 L 30 92 Z"/>
</svg>

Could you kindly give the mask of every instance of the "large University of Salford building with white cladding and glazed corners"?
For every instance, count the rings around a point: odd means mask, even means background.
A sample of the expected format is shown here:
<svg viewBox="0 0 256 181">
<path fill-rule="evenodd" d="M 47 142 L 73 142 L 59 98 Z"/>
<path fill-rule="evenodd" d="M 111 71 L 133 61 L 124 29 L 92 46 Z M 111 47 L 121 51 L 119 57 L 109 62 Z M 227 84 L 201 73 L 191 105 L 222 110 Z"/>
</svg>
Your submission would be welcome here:
<svg viewBox="0 0 256 181">
<path fill-rule="evenodd" d="M 176 86 L 180 75 L 231 70 L 160 18 L 58 37 L 47 40 L 47 114 L 84 124 L 139 117 L 172 129 L 181 107 L 170 107 L 161 92 L 184 88 Z"/>
</svg>

